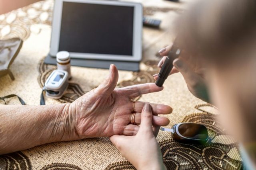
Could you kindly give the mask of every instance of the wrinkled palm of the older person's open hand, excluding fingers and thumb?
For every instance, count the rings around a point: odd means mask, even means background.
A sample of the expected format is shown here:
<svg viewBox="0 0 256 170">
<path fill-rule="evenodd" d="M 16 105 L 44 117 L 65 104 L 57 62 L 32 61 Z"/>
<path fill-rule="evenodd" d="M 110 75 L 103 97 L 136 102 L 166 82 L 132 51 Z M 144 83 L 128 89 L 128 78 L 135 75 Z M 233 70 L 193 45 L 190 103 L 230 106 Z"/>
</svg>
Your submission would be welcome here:
<svg viewBox="0 0 256 170">
<path fill-rule="evenodd" d="M 98 95 L 92 90 L 80 104 L 77 131 L 90 137 L 112 136 L 120 134 L 130 123 L 132 102 L 128 96 L 114 90 L 110 96 Z M 86 114 L 84 114 L 86 113 Z"/>
</svg>

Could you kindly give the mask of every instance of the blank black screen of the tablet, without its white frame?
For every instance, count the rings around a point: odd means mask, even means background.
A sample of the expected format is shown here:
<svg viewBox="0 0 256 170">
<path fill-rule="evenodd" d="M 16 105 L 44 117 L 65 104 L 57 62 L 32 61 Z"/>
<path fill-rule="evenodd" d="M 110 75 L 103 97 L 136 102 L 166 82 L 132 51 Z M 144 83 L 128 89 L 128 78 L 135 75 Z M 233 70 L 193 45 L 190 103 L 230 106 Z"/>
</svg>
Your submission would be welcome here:
<svg viewBox="0 0 256 170">
<path fill-rule="evenodd" d="M 63 2 L 58 51 L 132 57 L 134 7 Z"/>
</svg>

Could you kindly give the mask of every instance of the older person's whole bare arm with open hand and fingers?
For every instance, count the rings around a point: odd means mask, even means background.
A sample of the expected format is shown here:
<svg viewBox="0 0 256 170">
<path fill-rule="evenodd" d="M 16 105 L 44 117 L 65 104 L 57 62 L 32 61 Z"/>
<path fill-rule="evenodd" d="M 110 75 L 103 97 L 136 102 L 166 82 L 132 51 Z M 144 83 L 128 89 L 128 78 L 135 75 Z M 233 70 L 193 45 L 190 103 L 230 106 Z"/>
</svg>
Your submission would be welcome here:
<svg viewBox="0 0 256 170">
<path fill-rule="evenodd" d="M 110 66 L 109 77 L 90 92 L 71 104 L 47 106 L 0 105 L 0 154 L 28 149 L 44 143 L 70 141 L 89 137 L 110 137 L 115 134 L 135 135 L 138 125 L 131 124 L 135 109 L 135 123 L 140 124 L 145 102 L 131 100 L 162 87 L 154 83 L 116 88 L 118 70 Z M 166 117 L 172 108 L 150 104 L 154 114 L 152 123 L 168 125 Z"/>
</svg>

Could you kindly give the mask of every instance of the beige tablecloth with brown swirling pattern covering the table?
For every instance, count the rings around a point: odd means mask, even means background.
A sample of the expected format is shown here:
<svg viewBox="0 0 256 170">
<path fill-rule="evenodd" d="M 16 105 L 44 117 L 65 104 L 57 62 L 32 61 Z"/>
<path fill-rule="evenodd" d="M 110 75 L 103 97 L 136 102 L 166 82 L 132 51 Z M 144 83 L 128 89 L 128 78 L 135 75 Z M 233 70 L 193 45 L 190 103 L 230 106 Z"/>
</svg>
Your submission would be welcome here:
<svg viewBox="0 0 256 170">
<path fill-rule="evenodd" d="M 154 82 L 158 73 L 157 51 L 174 38 L 174 19 L 183 12 L 186 2 L 142 0 L 144 14 L 162 20 L 161 29 L 144 28 L 143 60 L 140 72 L 119 71 L 118 87 Z M 53 0 L 45 0 L 0 15 L 0 39 L 20 37 L 24 40 L 20 54 L 10 67 L 15 80 L 0 78 L 0 96 L 17 94 L 28 105 L 39 105 L 42 86 L 56 66 L 43 63 L 49 51 Z M 46 104 L 72 102 L 98 86 L 108 70 L 72 66 L 72 80 L 67 93 L 60 100 L 47 99 Z M 96 75 L 96 76 L 95 76 Z M 160 131 L 157 137 L 164 163 L 168 169 L 242 169 L 239 148 L 218 121 L 218 111 L 198 100 L 186 88 L 181 74 L 170 76 L 162 92 L 146 94 L 137 100 L 163 103 L 173 107 L 167 115 L 172 127 L 175 123 L 202 123 L 208 128 L 211 142 L 189 145 L 173 141 L 169 133 Z M 16 99 L 8 104 L 19 104 Z M 3 103 L 0 103 L 3 104 Z M 28 150 L 0 156 L 0 169 L 135 169 L 108 138 L 50 143 Z"/>
</svg>

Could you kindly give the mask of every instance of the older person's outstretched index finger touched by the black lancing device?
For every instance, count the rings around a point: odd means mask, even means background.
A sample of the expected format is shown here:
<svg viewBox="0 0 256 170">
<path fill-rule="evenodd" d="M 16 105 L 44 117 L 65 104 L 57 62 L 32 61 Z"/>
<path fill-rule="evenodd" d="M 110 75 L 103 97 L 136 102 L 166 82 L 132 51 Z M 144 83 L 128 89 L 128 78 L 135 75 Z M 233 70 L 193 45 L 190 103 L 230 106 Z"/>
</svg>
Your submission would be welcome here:
<svg viewBox="0 0 256 170">
<path fill-rule="evenodd" d="M 130 99 L 136 98 L 142 94 L 148 94 L 152 92 L 159 92 L 163 90 L 164 87 L 158 87 L 155 83 L 138 84 L 133 86 L 128 86 L 124 88 L 119 88 L 117 90 L 122 90 L 122 92 L 128 96 Z"/>
</svg>

